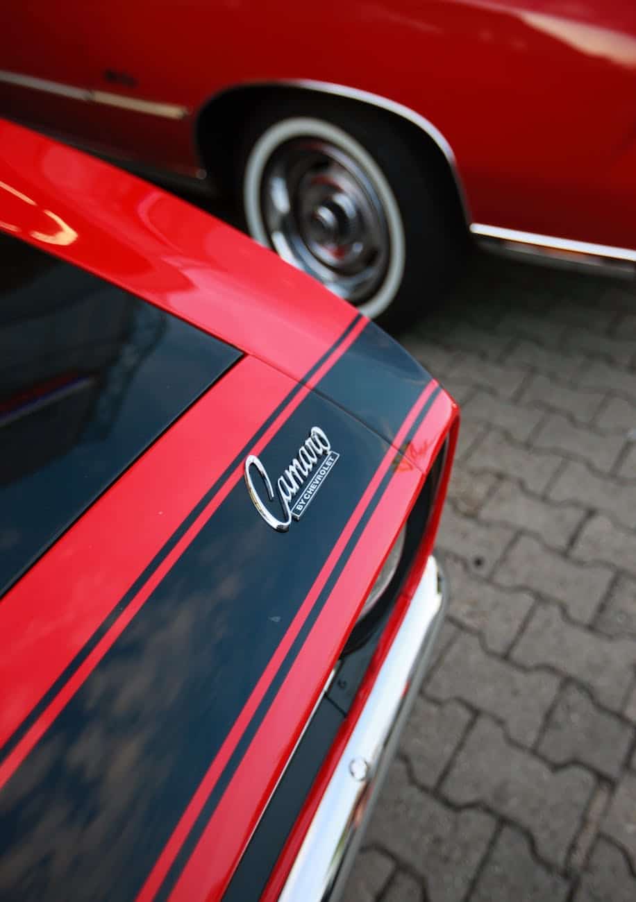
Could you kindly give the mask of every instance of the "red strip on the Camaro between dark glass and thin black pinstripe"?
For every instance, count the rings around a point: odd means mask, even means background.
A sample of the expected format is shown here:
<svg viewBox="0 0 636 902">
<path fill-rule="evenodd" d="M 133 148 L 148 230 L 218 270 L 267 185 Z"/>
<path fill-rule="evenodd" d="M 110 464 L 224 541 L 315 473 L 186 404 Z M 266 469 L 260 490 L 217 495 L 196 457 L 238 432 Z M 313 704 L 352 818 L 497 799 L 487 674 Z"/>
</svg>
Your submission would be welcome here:
<svg viewBox="0 0 636 902">
<path fill-rule="evenodd" d="M 258 393 L 253 391 L 254 384 L 259 386 Z M 100 502 L 89 508 L 77 525 L 5 594 L 0 604 L 0 630 L 7 644 L 0 660 L 0 686 L 13 689 L 8 698 L 3 695 L 0 705 L 0 746 L 21 723 L 24 712 L 32 710 L 151 563 L 210 483 L 224 473 L 235 456 L 237 444 L 249 442 L 292 384 L 281 373 L 252 358 L 236 364 L 215 391 L 207 392 L 186 417 L 155 443 L 152 454 L 142 456 L 127 470 Z M 222 422 L 226 429 L 217 433 L 208 428 L 210 422 Z M 272 426 L 272 431 L 275 428 Z M 264 444 L 264 439 L 259 444 Z M 190 449 L 187 467 L 183 466 L 184 447 Z M 176 490 L 174 484 L 166 483 L 166 473 L 180 474 Z M 236 479 L 235 474 L 233 481 L 218 492 L 201 520 L 211 516 Z M 152 508 L 149 498 L 153 499 Z M 186 542 L 188 539 L 191 537 L 185 537 Z M 108 548 L 107 556 L 104 548 Z M 166 561 L 164 570 L 171 559 Z M 153 574 L 152 581 L 143 586 L 139 604 L 145 601 L 160 575 Z M 44 598 L 46 618 L 42 617 Z M 121 631 L 121 621 L 117 629 Z M 88 667 L 95 666 L 114 639 L 113 631 Z M 53 714 L 44 715 L 47 723 Z M 14 754 L 0 765 L 0 786 L 43 728 L 43 722 L 36 723 Z"/>
</svg>

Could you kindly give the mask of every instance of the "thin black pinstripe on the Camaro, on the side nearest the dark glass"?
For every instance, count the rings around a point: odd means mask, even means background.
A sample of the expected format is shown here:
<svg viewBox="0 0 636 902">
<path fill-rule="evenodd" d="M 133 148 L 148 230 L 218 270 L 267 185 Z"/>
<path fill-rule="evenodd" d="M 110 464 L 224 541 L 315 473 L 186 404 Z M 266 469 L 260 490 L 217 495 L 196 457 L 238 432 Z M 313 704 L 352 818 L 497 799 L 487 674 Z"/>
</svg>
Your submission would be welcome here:
<svg viewBox="0 0 636 902">
<path fill-rule="evenodd" d="M 254 433 L 250 441 L 241 448 L 232 463 L 226 467 L 226 470 L 223 472 L 223 474 L 221 474 L 218 477 L 217 481 L 208 489 L 203 498 L 201 498 L 201 500 L 198 502 L 197 506 L 193 508 L 192 511 L 190 511 L 188 517 L 186 517 L 186 519 L 182 521 L 180 526 L 175 529 L 175 531 L 171 535 L 171 538 L 168 539 L 165 545 L 152 558 L 150 564 L 146 566 L 142 574 L 137 577 L 137 579 L 131 585 L 130 589 L 126 592 L 126 594 L 124 594 L 121 601 L 115 605 L 113 611 L 108 614 L 108 616 L 104 621 L 102 621 L 102 623 L 100 623 L 100 625 L 97 627 L 97 630 L 95 630 L 86 645 L 78 651 L 78 654 L 75 656 L 75 658 L 72 659 L 72 661 L 70 661 L 69 665 L 65 667 L 65 669 L 55 680 L 47 693 L 42 696 L 40 702 L 38 702 L 38 704 L 33 707 L 32 711 L 24 718 L 20 726 L 14 731 L 9 739 L 5 741 L 4 745 L 0 748 L 0 764 L 5 760 L 7 755 L 11 754 L 18 742 L 23 739 L 25 733 L 30 730 L 33 723 L 38 720 L 38 718 L 41 716 L 41 713 L 46 710 L 55 696 L 58 695 L 61 688 L 69 682 L 71 676 L 73 676 L 78 668 L 81 667 L 83 662 L 88 658 L 88 655 L 96 647 L 99 640 L 101 640 L 106 632 L 113 626 L 115 621 L 117 621 L 119 617 L 121 617 L 125 609 L 133 601 L 135 595 L 143 588 L 143 585 L 147 583 L 157 567 L 161 565 L 161 562 L 166 557 L 168 557 L 168 555 L 171 553 L 171 550 L 179 543 L 180 539 L 188 531 L 192 523 L 197 520 L 201 511 L 205 510 L 207 504 L 217 494 L 221 486 L 226 483 L 226 480 L 235 471 L 236 466 L 240 464 L 240 462 L 244 459 L 244 456 L 260 440 L 260 438 L 263 437 L 265 432 L 272 426 L 272 423 L 277 419 L 277 417 L 280 416 L 282 410 L 284 410 L 290 403 L 290 401 L 296 397 L 299 391 L 303 388 L 303 384 L 305 382 L 309 382 L 312 376 L 315 373 L 318 373 L 320 367 L 325 364 L 328 357 L 333 354 L 337 350 L 337 348 L 343 344 L 343 342 L 346 341 L 346 338 L 351 334 L 352 330 L 355 328 L 360 319 L 361 316 L 358 314 L 358 316 L 356 316 L 351 321 L 351 323 L 349 323 L 342 335 L 339 336 L 339 338 L 336 339 L 334 344 L 329 347 L 325 354 L 320 357 L 318 362 L 314 364 L 307 373 L 305 373 L 303 381 L 295 385 L 294 388 L 291 389 L 291 391 L 286 395 L 286 397 L 281 400 L 281 403 L 278 405 L 278 407 L 263 422 L 263 426 L 261 426 L 261 428 L 259 428 Z"/>
</svg>

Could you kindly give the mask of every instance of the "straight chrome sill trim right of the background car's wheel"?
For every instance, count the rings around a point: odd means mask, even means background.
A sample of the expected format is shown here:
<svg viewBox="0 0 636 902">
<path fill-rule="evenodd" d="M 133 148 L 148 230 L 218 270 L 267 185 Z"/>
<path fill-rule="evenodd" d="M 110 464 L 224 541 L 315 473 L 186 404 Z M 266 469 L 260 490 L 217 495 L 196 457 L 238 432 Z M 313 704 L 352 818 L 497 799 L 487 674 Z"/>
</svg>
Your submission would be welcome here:
<svg viewBox="0 0 636 902">
<path fill-rule="evenodd" d="M 608 244 L 590 244 L 571 238 L 553 235 L 535 235 L 512 228 L 484 226 L 473 223 L 470 231 L 485 250 L 496 253 L 524 254 L 542 258 L 550 264 L 572 264 L 578 268 L 612 269 L 627 275 L 633 274 L 636 251 Z"/>
</svg>

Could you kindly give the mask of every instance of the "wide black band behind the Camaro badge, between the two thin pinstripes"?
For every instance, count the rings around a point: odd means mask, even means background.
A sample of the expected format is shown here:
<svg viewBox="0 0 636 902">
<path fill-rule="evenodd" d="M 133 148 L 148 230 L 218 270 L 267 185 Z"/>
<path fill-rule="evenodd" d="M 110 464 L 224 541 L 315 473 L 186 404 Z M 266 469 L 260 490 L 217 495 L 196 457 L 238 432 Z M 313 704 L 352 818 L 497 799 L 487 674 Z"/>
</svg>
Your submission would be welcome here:
<svg viewBox="0 0 636 902">
<path fill-rule="evenodd" d="M 392 398 L 401 422 L 427 382 Z M 260 454 L 272 476 L 316 425 L 340 457 L 302 519 L 270 529 L 237 483 L 7 781 L 0 895 L 143 886 L 387 452 L 309 392 Z"/>
</svg>

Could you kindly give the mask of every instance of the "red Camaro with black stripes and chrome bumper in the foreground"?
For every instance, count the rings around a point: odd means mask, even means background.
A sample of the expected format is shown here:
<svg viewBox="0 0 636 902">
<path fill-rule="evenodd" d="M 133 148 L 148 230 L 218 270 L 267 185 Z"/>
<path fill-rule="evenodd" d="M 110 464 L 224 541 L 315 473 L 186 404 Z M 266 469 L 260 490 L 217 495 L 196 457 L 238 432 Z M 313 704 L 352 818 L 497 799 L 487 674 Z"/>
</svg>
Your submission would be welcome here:
<svg viewBox="0 0 636 902">
<path fill-rule="evenodd" d="M 0 123 L 0 897 L 324 899 L 445 612 L 454 402 L 318 282 Z"/>
</svg>

